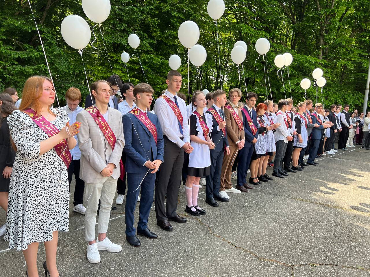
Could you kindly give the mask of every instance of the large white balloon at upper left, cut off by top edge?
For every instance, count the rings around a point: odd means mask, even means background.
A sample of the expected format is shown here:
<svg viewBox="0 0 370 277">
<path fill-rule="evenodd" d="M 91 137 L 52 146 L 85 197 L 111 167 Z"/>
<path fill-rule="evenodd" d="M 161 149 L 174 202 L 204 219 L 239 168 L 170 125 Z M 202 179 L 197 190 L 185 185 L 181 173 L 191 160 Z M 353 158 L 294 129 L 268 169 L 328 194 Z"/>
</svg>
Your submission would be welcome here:
<svg viewBox="0 0 370 277">
<path fill-rule="evenodd" d="M 102 23 L 111 13 L 111 2 L 109 0 L 82 0 L 82 9 L 91 21 Z"/>
</svg>

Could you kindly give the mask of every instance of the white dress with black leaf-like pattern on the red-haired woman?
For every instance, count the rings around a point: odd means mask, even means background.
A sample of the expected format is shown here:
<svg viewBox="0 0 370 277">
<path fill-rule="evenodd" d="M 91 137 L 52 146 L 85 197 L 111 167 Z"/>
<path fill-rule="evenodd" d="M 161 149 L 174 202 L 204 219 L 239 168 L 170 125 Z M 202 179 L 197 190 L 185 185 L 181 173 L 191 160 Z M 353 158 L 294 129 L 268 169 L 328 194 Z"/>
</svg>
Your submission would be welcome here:
<svg viewBox="0 0 370 277">
<path fill-rule="evenodd" d="M 51 108 L 59 130 L 69 121 L 63 109 Z M 33 242 L 53 239 L 53 232 L 68 231 L 69 188 L 67 167 L 54 148 L 40 155 L 47 134 L 30 116 L 15 110 L 8 117 L 17 154 L 10 178 L 5 240 L 9 248 L 25 250 Z"/>
</svg>

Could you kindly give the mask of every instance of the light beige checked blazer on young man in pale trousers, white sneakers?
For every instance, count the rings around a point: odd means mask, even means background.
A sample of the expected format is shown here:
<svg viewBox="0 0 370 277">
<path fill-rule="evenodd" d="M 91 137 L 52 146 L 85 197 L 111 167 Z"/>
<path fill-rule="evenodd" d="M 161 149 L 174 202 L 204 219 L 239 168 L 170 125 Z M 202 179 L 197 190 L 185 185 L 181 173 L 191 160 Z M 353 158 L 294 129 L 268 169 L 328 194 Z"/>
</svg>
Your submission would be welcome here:
<svg viewBox="0 0 370 277">
<path fill-rule="evenodd" d="M 81 122 L 80 132 L 77 134 L 78 147 L 81 150 L 80 178 L 91 184 L 104 182 L 105 177 L 100 172 L 107 167 L 108 163 L 112 163 L 115 165 L 112 177 L 118 179 L 121 174 L 120 160 L 125 145 L 121 112 L 108 107 L 108 125 L 116 137 L 114 150 L 86 110 L 78 113 L 76 120 Z"/>
</svg>

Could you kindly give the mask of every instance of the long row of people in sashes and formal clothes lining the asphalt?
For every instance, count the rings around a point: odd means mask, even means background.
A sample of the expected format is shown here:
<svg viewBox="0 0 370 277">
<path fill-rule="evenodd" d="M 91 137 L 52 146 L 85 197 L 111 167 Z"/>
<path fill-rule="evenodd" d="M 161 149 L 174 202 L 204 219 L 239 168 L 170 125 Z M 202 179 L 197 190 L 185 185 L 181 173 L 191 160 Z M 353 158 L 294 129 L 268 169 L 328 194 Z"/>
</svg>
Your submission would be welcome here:
<svg viewBox="0 0 370 277">
<path fill-rule="evenodd" d="M 181 74 L 169 71 L 166 84 L 154 100 L 147 83 L 134 86 L 112 75 L 91 84 L 85 109 L 79 106 L 77 88 L 65 93 L 65 107 L 53 108 L 55 91 L 44 76 L 26 81 L 19 109 L 14 106 L 16 97 L 0 94 L 0 205 L 7 212 L 0 234 L 5 233 L 10 248 L 23 250 L 27 276 L 38 276 L 39 242 L 46 250 L 45 273 L 59 276 L 58 231 L 68 230 L 68 187 L 73 175 L 73 211 L 85 215 L 87 259 L 98 263 L 99 250 L 122 250 L 107 237 L 116 189 L 115 204 L 126 199 L 126 240 L 139 247 L 137 235 L 158 237 L 148 228 L 153 202 L 157 225 L 166 231 L 174 229 L 170 222 L 186 222 L 176 212 L 179 191 L 185 192 L 186 213 L 206 214 L 198 203 L 202 178 L 206 204 L 217 207 L 218 202 L 229 201 L 228 193 L 246 193 L 253 185 L 272 181 L 268 166 L 273 167 L 273 177 L 286 178 L 316 166 L 315 159 L 322 155 L 354 147 L 355 133 L 357 144 L 362 139 L 363 148 L 369 149 L 370 112 L 356 118 L 349 105 L 343 111 L 341 105 L 330 110 L 324 110 L 322 103 L 313 107 L 311 100 L 295 107 L 292 99 L 256 105 L 258 96 L 253 92 L 244 104 L 238 88 L 207 95 L 197 90 L 186 105 L 186 97 L 179 93 Z M 231 178 L 236 179 L 235 188 Z"/>
</svg>

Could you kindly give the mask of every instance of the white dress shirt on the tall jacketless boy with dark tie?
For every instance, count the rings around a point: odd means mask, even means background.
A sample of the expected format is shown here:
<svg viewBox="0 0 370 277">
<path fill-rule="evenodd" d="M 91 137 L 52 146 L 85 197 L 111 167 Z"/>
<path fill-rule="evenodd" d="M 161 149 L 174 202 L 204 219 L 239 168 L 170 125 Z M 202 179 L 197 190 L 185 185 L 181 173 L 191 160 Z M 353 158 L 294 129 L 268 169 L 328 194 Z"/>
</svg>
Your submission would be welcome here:
<svg viewBox="0 0 370 277">
<path fill-rule="evenodd" d="M 166 90 L 164 94 L 171 101 L 175 102 L 174 95 L 171 92 Z M 176 143 L 178 147 L 182 147 L 186 142 L 190 143 L 189 124 L 187 120 L 185 101 L 177 97 L 177 95 L 176 98 L 182 115 L 182 131 L 184 135 L 182 135 L 180 132 L 179 121 L 175 116 L 174 111 L 168 105 L 165 99 L 158 97 L 157 100 L 155 100 L 154 112 L 158 117 L 159 124 L 161 124 L 163 135 L 173 143 Z M 182 136 L 184 136 L 184 140 L 181 140 L 180 137 Z"/>
</svg>

